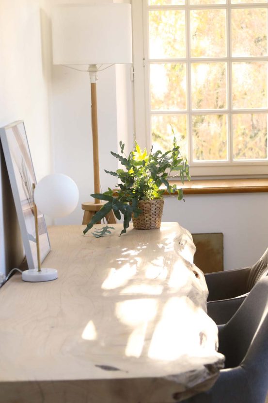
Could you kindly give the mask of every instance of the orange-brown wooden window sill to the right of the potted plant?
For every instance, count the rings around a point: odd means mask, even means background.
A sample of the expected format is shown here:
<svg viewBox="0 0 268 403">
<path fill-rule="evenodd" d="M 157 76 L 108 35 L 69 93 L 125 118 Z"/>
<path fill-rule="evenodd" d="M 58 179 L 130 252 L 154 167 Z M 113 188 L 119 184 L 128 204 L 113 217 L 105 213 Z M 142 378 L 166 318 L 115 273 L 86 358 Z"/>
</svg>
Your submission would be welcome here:
<svg viewBox="0 0 268 403">
<path fill-rule="evenodd" d="M 170 181 L 170 184 L 181 187 L 185 195 L 268 192 L 268 178 L 191 180 L 186 181 L 184 185 L 179 181 Z M 169 193 L 165 192 L 165 195 L 169 195 Z"/>
</svg>

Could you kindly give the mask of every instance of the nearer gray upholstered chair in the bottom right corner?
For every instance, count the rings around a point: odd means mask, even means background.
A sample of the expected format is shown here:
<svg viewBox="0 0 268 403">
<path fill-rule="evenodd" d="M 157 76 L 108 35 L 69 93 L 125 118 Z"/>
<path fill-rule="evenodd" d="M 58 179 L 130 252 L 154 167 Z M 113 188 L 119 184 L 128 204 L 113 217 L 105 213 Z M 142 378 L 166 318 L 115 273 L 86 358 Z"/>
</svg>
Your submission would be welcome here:
<svg viewBox="0 0 268 403">
<path fill-rule="evenodd" d="M 225 369 L 214 386 L 183 403 L 264 403 L 268 392 L 268 277 L 251 290 L 228 323 L 219 326 Z"/>
</svg>

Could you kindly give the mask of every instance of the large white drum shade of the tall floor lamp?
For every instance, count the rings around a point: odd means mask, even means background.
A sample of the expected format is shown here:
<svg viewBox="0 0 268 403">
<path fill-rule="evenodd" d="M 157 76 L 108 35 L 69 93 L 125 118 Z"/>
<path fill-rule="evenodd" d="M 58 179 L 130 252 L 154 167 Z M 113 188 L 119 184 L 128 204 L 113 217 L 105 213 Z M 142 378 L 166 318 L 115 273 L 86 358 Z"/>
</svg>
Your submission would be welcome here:
<svg viewBox="0 0 268 403">
<path fill-rule="evenodd" d="M 52 44 L 54 65 L 132 63 L 131 5 L 55 7 Z"/>
</svg>

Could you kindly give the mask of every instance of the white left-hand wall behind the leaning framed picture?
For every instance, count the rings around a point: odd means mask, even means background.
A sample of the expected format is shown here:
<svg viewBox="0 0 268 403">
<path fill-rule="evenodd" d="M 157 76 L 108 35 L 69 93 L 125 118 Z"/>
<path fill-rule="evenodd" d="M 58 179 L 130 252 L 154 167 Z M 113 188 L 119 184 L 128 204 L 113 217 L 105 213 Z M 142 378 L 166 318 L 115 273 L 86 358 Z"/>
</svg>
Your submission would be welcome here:
<svg viewBox="0 0 268 403">
<path fill-rule="evenodd" d="M 0 1 L 0 126 L 24 120 L 37 180 L 51 168 L 49 32 L 45 0 Z M 6 272 L 20 263 L 23 251 L 0 159 L 0 271 Z"/>
</svg>

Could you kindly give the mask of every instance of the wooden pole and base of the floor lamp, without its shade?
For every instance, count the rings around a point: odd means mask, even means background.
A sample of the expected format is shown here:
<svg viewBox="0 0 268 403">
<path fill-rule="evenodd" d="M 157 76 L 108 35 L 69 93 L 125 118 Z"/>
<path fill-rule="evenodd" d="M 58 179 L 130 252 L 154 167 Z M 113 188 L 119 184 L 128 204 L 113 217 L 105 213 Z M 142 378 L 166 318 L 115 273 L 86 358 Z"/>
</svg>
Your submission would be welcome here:
<svg viewBox="0 0 268 403">
<path fill-rule="evenodd" d="M 92 142 L 93 142 L 93 171 L 94 171 L 94 193 L 100 193 L 100 180 L 99 180 L 99 150 L 98 150 L 98 118 L 97 118 L 97 66 L 90 65 L 88 68 L 90 75 L 91 86 L 91 119 L 92 119 Z M 84 210 L 84 216 L 82 224 L 88 224 L 94 214 L 99 211 L 105 202 L 99 199 L 94 199 L 94 202 L 87 201 L 82 203 L 82 210 Z M 115 224 L 116 218 L 111 211 L 105 216 L 109 224 Z M 99 222 L 100 223 L 100 222 Z"/>
</svg>

